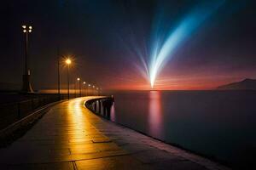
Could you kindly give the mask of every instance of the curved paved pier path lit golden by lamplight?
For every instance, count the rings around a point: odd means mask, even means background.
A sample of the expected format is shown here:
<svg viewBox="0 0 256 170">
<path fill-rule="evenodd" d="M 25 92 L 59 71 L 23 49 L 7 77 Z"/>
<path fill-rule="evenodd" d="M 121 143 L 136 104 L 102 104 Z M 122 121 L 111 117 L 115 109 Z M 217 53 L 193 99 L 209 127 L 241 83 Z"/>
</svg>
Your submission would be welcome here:
<svg viewBox="0 0 256 170">
<path fill-rule="evenodd" d="M 228 169 L 96 116 L 84 107 L 93 98 L 52 106 L 0 149 L 1 169 Z"/>
</svg>

